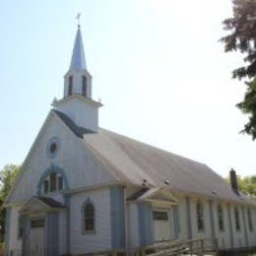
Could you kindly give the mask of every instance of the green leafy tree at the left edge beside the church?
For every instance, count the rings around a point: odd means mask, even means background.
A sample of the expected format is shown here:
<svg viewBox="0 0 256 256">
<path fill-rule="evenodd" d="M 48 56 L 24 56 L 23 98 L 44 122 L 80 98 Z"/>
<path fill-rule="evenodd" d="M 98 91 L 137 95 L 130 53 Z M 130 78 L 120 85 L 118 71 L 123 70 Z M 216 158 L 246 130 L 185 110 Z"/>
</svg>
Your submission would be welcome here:
<svg viewBox="0 0 256 256">
<path fill-rule="evenodd" d="M 20 165 L 7 164 L 0 170 L 0 243 L 4 242 L 5 237 L 5 216 L 6 210 L 3 207 L 4 201 L 11 190 L 11 187 L 20 171 Z"/>
</svg>

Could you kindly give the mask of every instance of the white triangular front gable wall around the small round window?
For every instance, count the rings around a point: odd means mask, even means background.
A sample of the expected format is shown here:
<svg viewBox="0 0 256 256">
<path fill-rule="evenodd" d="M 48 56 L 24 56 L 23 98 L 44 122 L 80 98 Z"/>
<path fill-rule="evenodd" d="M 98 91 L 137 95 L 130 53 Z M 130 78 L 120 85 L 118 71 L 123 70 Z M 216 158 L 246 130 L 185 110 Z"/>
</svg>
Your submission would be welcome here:
<svg viewBox="0 0 256 256">
<path fill-rule="evenodd" d="M 48 141 L 53 137 L 59 138 L 60 149 L 57 156 L 50 159 L 46 154 L 46 147 Z M 55 113 L 50 113 L 35 140 L 30 158 L 23 166 L 23 173 L 15 186 L 10 201 L 29 200 L 35 196 L 38 180 L 51 164 L 65 171 L 70 189 L 112 180 L 112 176 L 86 149 L 82 140 L 74 135 Z"/>
</svg>

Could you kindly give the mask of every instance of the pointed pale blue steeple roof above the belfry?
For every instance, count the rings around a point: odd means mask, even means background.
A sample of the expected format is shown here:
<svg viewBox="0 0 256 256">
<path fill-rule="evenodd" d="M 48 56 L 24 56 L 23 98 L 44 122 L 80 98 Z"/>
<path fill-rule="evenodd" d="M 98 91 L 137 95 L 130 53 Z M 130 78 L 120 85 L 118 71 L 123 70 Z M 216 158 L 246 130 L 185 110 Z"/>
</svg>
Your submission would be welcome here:
<svg viewBox="0 0 256 256">
<path fill-rule="evenodd" d="M 80 25 L 78 26 L 78 32 L 73 48 L 72 58 L 70 62 L 70 70 L 82 70 L 87 69 L 86 57 L 83 45 L 82 34 L 80 31 Z"/>
</svg>

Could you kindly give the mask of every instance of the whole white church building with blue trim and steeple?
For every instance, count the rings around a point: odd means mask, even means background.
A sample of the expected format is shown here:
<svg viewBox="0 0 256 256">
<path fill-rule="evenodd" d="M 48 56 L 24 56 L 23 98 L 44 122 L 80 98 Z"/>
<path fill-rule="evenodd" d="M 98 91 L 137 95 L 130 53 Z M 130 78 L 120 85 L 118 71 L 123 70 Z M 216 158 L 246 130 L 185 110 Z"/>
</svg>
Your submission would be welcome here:
<svg viewBox="0 0 256 256">
<path fill-rule="evenodd" d="M 5 255 L 83 255 L 217 237 L 256 247 L 256 203 L 207 165 L 98 127 L 80 26 L 54 102 L 5 202 Z"/>
</svg>

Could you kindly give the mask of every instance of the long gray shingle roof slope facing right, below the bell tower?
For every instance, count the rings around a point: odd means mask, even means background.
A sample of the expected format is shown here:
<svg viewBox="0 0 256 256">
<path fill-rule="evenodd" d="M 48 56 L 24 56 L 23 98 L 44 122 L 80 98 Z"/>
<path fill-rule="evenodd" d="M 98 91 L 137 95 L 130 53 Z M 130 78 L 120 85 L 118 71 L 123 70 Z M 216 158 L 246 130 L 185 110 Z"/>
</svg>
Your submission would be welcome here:
<svg viewBox="0 0 256 256">
<path fill-rule="evenodd" d="M 65 115 L 58 115 L 63 120 Z M 63 121 L 69 126 L 68 122 Z M 76 130 L 74 127 L 70 129 Z M 243 194 L 233 191 L 224 178 L 204 163 L 100 128 L 98 133 L 86 132 L 83 141 L 119 181 L 141 186 L 168 187 L 176 192 L 255 204 Z M 169 184 L 166 184 L 165 180 L 168 180 Z"/>
</svg>

